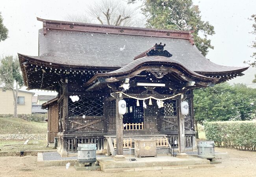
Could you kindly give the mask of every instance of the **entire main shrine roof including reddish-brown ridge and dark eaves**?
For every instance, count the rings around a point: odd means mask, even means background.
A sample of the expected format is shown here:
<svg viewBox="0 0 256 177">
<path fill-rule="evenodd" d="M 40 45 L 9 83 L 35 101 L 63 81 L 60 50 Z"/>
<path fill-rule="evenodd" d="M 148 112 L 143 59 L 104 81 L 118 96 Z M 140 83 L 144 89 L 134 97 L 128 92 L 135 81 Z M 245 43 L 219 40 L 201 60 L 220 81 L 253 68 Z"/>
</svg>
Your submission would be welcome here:
<svg viewBox="0 0 256 177">
<path fill-rule="evenodd" d="M 33 76 L 28 76 L 27 72 L 31 72 L 32 67 L 26 68 L 28 65 L 24 63 L 35 65 L 36 70 L 37 65 L 41 68 L 43 65 L 55 72 L 61 68 L 70 72 L 71 69 L 89 68 L 113 71 L 145 56 L 144 51 L 159 42 L 166 44 L 165 50 L 172 54 L 173 60 L 200 75 L 225 77 L 225 81 L 243 75 L 241 72 L 248 68 L 222 66 L 206 59 L 194 45 L 193 31 L 37 19 L 43 22 L 43 29 L 39 30 L 39 56 L 18 54 L 25 85 L 36 82 L 39 75 L 33 73 Z M 34 84 L 29 88 L 37 87 Z M 40 89 L 44 87 L 41 84 Z"/>
</svg>

